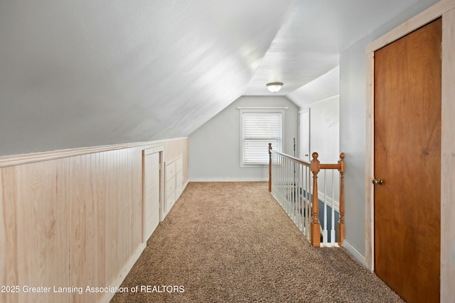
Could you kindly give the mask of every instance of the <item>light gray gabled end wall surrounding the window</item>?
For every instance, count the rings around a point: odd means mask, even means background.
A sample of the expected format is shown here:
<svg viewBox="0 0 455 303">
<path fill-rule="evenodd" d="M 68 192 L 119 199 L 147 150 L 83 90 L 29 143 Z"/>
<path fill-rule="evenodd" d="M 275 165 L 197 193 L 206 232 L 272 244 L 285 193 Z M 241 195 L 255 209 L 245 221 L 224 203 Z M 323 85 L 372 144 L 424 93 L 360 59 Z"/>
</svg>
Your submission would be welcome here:
<svg viewBox="0 0 455 303">
<path fill-rule="evenodd" d="M 240 97 L 190 135 L 190 181 L 268 180 L 268 167 L 240 167 L 240 111 L 237 107 L 288 106 L 283 119 L 283 150 L 293 155 L 297 107 L 286 97 Z M 264 146 L 267 150 L 267 146 Z"/>
</svg>

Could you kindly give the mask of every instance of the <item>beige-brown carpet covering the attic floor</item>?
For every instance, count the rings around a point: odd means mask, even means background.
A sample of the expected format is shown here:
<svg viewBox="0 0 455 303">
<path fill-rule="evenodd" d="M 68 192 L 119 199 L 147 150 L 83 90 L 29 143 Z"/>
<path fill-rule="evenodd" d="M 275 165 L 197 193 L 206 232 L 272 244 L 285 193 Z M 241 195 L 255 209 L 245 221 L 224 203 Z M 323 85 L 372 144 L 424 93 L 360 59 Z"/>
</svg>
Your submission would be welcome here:
<svg viewBox="0 0 455 303">
<path fill-rule="evenodd" d="M 266 182 L 188 184 L 122 287 L 138 292 L 111 302 L 402 302 L 343 248 L 310 246 Z"/>
</svg>

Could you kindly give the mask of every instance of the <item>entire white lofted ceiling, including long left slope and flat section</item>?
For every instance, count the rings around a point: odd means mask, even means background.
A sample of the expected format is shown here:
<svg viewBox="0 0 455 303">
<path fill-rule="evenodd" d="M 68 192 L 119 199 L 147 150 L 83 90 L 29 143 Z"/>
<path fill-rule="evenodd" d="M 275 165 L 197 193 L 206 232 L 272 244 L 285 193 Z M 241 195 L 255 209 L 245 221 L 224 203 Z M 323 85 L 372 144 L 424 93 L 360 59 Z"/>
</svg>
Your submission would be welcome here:
<svg viewBox="0 0 455 303">
<path fill-rule="evenodd" d="M 0 0 L 0 155 L 189 136 L 416 2 Z"/>
</svg>

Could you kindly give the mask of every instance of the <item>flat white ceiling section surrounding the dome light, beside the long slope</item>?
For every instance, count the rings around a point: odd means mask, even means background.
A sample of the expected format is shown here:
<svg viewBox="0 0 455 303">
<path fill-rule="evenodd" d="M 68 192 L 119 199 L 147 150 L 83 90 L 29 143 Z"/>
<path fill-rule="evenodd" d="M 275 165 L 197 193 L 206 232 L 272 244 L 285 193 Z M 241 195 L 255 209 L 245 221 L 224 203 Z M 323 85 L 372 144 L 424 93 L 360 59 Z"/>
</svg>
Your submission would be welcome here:
<svg viewBox="0 0 455 303">
<path fill-rule="evenodd" d="M 268 95 L 283 82 L 287 95 L 339 65 L 341 51 L 417 0 L 298 0 L 255 72 L 246 95 Z"/>
</svg>

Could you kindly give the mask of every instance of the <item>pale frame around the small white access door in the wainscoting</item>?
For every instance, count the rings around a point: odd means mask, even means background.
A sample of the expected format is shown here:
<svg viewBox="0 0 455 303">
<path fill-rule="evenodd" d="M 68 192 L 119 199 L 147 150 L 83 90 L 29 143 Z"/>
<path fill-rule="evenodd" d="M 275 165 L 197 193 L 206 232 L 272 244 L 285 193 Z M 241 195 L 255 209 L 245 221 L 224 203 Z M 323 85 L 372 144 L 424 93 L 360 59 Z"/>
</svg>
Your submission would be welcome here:
<svg viewBox="0 0 455 303">
<path fill-rule="evenodd" d="M 142 241 L 147 242 L 146 238 L 146 184 L 145 184 L 145 158 L 146 155 L 159 153 L 159 221 L 164 220 L 164 147 L 146 148 L 142 150 Z"/>
</svg>

